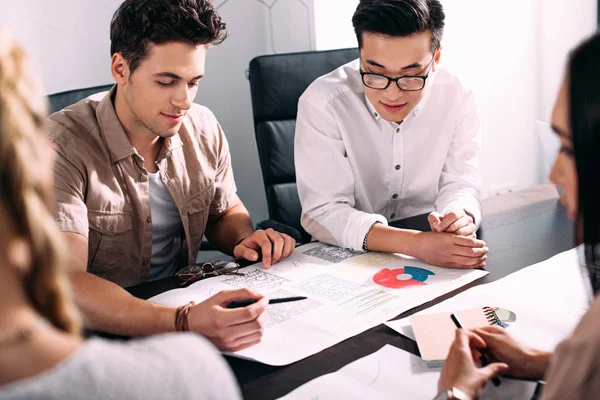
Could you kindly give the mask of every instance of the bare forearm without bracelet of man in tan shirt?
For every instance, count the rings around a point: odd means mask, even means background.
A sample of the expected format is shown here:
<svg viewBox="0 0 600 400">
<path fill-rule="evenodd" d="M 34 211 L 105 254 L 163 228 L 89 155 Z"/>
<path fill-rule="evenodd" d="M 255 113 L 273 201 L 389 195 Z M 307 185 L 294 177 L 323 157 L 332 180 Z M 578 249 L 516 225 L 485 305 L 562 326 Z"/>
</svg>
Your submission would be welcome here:
<svg viewBox="0 0 600 400">
<path fill-rule="evenodd" d="M 217 218 L 209 219 L 204 234 L 219 251 L 233 254 L 235 246 L 253 232 L 250 214 L 240 202 Z"/>
</svg>

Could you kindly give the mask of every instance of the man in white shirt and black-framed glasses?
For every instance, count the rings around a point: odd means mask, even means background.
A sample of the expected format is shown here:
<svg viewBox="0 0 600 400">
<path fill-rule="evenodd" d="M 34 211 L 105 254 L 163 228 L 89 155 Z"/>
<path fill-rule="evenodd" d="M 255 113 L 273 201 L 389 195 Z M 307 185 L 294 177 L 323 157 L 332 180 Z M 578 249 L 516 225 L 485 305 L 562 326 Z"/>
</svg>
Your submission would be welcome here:
<svg viewBox="0 0 600 400">
<path fill-rule="evenodd" d="M 302 226 L 355 251 L 481 268 L 481 127 L 473 94 L 438 67 L 439 0 L 361 0 L 360 58 L 311 84 L 298 105 Z M 388 226 L 429 214 L 433 232 Z"/>
</svg>

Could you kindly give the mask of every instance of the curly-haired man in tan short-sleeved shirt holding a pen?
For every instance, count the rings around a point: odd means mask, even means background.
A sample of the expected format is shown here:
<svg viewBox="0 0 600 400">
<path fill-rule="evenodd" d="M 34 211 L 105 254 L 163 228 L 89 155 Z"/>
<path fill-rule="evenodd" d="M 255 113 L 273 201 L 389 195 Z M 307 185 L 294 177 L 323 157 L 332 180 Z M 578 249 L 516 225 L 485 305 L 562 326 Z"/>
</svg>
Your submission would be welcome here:
<svg viewBox="0 0 600 400">
<path fill-rule="evenodd" d="M 225 37 L 209 0 L 127 0 L 110 31 L 117 84 L 50 117 L 57 221 L 89 328 L 130 336 L 189 329 L 229 351 L 261 339 L 267 301 L 249 290 L 176 309 L 122 289 L 195 264 L 203 235 L 237 258 L 262 255 L 267 268 L 293 252 L 289 236 L 253 231 L 225 135 L 193 103 L 207 47 Z M 258 301 L 225 308 L 244 298 Z"/>
</svg>

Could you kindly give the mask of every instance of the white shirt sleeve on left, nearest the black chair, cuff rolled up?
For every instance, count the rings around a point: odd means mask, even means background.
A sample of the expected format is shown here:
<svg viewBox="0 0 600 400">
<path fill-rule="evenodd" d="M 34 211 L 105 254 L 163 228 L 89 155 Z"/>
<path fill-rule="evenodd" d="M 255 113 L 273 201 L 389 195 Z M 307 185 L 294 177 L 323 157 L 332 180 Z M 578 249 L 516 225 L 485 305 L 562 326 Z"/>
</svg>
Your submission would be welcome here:
<svg viewBox="0 0 600 400">
<path fill-rule="evenodd" d="M 379 214 L 356 210 L 354 175 L 344 142 L 327 107 L 300 99 L 294 140 L 296 183 L 302 226 L 317 240 L 362 251 L 364 238 Z"/>
</svg>

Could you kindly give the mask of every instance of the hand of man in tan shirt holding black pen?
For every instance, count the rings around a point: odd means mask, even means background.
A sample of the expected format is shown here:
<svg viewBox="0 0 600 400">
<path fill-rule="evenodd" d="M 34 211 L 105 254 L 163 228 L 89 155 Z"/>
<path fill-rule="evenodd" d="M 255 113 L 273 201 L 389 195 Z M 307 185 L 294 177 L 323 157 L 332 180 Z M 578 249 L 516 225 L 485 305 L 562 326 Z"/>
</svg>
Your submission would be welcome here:
<svg viewBox="0 0 600 400">
<path fill-rule="evenodd" d="M 226 308 L 234 300 L 256 299 L 241 308 Z M 249 289 L 224 290 L 192 307 L 190 331 L 210 340 L 219 350 L 238 351 L 260 343 L 268 300 Z"/>
</svg>

